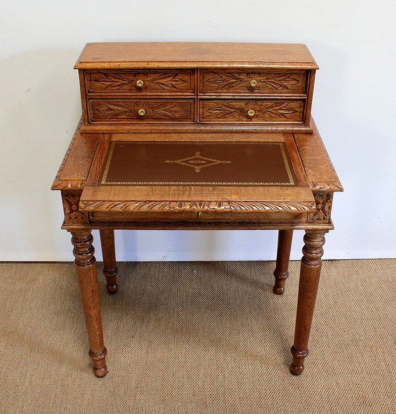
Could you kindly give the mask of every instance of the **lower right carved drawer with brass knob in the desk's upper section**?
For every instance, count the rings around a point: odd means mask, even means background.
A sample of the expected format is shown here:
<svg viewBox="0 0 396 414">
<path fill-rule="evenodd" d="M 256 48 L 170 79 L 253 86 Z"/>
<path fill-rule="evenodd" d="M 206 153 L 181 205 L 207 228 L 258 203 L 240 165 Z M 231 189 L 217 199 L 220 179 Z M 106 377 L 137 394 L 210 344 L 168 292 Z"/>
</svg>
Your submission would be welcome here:
<svg viewBox="0 0 396 414">
<path fill-rule="evenodd" d="M 201 99 L 200 122 L 301 123 L 304 99 Z"/>
</svg>

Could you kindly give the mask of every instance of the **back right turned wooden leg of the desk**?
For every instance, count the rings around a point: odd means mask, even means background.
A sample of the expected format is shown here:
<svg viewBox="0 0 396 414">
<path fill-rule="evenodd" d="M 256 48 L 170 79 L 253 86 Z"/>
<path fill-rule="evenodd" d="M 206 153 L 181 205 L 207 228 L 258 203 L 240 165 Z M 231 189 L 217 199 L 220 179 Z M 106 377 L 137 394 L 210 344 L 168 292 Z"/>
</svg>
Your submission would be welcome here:
<svg viewBox="0 0 396 414">
<path fill-rule="evenodd" d="M 286 279 L 289 276 L 289 259 L 292 248 L 293 230 L 279 230 L 278 252 L 276 255 L 276 266 L 274 271 L 275 285 L 274 293 L 282 295 L 285 291 Z"/>
</svg>

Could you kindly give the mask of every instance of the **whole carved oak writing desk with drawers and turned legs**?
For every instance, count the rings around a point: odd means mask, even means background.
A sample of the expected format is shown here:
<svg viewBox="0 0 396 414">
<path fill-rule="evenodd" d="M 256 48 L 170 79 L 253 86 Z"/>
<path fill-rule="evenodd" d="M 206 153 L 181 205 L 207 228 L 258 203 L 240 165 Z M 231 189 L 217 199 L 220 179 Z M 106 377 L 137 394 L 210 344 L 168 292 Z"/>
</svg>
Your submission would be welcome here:
<svg viewBox="0 0 396 414">
<path fill-rule="evenodd" d="M 88 44 L 82 118 L 56 175 L 72 234 L 95 375 L 107 373 L 92 229 L 108 292 L 114 229 L 279 230 L 274 292 L 305 230 L 293 362 L 300 374 L 342 186 L 311 118 L 314 59 L 304 45 Z"/>
</svg>

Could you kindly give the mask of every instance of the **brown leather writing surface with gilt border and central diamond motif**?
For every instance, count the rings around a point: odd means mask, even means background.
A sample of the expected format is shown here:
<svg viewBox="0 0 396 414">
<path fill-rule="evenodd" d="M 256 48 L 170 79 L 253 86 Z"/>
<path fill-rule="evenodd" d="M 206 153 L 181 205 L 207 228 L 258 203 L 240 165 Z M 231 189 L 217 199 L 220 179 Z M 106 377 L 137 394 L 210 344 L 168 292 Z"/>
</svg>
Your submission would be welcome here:
<svg viewBox="0 0 396 414">
<path fill-rule="evenodd" d="M 297 184 L 284 142 L 112 141 L 101 185 Z"/>
</svg>

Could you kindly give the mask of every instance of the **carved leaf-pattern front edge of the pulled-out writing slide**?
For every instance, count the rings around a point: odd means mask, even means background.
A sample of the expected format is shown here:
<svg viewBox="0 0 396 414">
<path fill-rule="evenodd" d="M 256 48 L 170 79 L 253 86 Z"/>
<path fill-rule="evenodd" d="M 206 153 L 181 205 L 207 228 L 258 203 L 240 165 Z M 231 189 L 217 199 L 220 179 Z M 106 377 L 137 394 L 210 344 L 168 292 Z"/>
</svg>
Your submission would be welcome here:
<svg viewBox="0 0 396 414">
<path fill-rule="evenodd" d="M 262 212 L 312 212 L 313 202 L 264 202 L 264 201 L 80 201 L 85 211 L 262 211 Z"/>
</svg>

